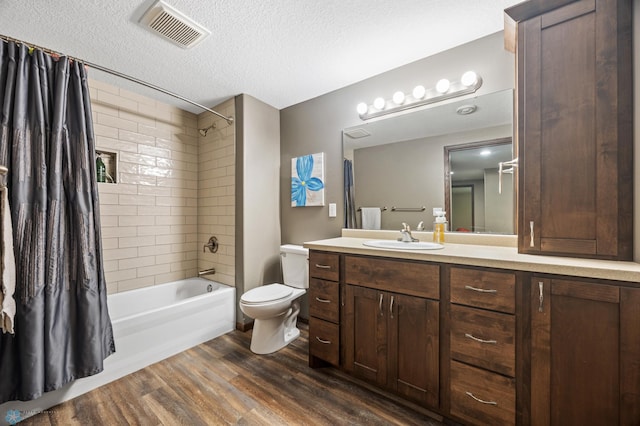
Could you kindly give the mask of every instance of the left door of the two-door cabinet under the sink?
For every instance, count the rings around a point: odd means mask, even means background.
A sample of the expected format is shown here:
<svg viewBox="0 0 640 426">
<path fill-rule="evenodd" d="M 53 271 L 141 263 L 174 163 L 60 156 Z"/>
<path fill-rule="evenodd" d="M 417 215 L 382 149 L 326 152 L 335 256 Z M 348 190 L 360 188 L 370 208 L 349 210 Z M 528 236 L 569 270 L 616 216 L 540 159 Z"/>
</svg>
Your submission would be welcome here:
<svg viewBox="0 0 640 426">
<path fill-rule="evenodd" d="M 345 301 L 345 369 L 386 386 L 387 314 L 389 295 L 348 285 Z"/>
</svg>

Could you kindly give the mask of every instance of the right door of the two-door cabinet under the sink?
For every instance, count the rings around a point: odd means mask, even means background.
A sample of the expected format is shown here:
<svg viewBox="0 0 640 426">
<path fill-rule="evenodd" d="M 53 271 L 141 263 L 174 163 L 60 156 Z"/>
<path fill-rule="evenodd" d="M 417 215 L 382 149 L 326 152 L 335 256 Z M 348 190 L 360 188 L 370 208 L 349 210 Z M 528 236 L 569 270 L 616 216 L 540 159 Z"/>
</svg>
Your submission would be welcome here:
<svg viewBox="0 0 640 426">
<path fill-rule="evenodd" d="M 439 303 L 391 294 L 387 320 L 389 386 L 405 398 L 437 407 Z"/>
</svg>

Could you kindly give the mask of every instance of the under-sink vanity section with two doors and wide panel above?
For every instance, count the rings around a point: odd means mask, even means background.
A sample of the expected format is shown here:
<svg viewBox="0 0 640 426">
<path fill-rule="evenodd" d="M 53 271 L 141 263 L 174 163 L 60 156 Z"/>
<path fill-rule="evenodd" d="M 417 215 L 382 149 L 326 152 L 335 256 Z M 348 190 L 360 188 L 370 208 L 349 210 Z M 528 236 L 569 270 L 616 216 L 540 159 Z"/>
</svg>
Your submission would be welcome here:
<svg viewBox="0 0 640 426">
<path fill-rule="evenodd" d="M 356 377 L 439 406 L 440 267 L 345 256 L 345 361 Z"/>
</svg>

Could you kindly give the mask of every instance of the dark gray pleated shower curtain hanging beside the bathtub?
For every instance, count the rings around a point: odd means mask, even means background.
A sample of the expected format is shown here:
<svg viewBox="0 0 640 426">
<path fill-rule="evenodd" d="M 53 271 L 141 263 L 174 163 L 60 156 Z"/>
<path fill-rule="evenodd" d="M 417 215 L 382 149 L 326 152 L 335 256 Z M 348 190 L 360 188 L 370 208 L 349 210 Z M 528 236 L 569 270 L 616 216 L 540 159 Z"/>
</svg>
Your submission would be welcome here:
<svg viewBox="0 0 640 426">
<path fill-rule="evenodd" d="M 103 369 L 107 311 L 86 70 L 24 44 L 0 49 L 0 164 L 14 235 L 15 335 L 0 335 L 0 402 Z"/>
</svg>

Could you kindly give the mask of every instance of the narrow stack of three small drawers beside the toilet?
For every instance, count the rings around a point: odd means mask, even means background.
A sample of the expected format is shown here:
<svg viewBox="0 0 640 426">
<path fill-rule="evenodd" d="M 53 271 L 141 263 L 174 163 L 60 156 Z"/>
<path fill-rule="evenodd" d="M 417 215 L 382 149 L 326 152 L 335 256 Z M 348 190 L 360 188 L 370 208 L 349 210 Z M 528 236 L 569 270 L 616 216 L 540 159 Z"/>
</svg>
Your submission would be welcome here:
<svg viewBox="0 0 640 426">
<path fill-rule="evenodd" d="M 340 255 L 309 252 L 309 365 L 340 365 Z"/>
</svg>

